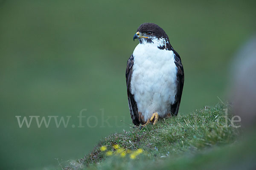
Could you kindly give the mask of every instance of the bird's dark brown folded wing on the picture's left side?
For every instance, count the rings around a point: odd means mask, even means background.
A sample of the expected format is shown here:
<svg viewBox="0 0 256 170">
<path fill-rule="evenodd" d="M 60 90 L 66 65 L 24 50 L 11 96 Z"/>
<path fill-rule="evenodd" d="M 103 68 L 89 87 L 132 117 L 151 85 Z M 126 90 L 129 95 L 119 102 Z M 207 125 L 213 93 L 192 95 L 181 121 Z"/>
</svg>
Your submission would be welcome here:
<svg viewBox="0 0 256 170">
<path fill-rule="evenodd" d="M 129 103 L 132 122 L 134 125 L 139 126 L 140 121 L 139 121 L 137 103 L 134 100 L 134 95 L 132 95 L 131 91 L 130 91 L 133 65 L 134 65 L 134 56 L 131 55 L 131 57 L 127 61 L 127 67 L 126 67 L 126 71 L 125 71 L 126 85 L 127 85 L 127 96 L 128 96 L 128 103 Z"/>
</svg>

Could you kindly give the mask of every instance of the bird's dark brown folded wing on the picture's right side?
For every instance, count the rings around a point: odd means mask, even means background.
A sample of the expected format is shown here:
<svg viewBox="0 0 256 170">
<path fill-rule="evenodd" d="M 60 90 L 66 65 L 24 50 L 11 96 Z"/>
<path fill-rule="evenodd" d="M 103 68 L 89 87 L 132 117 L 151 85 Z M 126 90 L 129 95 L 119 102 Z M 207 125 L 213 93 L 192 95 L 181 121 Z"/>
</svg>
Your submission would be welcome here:
<svg viewBox="0 0 256 170">
<path fill-rule="evenodd" d="M 181 63 L 179 54 L 173 49 L 172 51 L 175 54 L 174 62 L 177 67 L 177 94 L 175 96 L 175 103 L 171 105 L 171 113 L 173 116 L 177 116 L 180 108 L 180 100 L 181 100 L 181 95 L 182 95 L 182 90 L 184 85 L 184 70 L 183 70 L 183 65 Z"/>
</svg>

